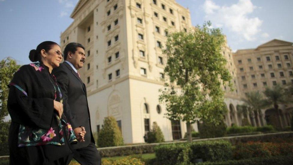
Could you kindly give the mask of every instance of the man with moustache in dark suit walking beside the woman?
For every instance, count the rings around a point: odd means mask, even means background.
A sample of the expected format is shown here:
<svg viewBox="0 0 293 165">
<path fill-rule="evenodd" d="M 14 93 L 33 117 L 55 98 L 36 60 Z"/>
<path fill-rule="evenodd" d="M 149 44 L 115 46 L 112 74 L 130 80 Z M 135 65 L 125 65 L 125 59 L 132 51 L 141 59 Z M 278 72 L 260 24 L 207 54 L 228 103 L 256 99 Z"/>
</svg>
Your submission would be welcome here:
<svg viewBox="0 0 293 165">
<path fill-rule="evenodd" d="M 84 47 L 71 42 L 64 49 L 64 62 L 53 70 L 53 74 L 64 93 L 65 115 L 71 121 L 78 143 L 72 145 L 73 158 L 80 164 L 101 164 L 101 156 L 92 136 L 86 86 L 81 81 L 78 69 L 85 62 Z"/>
</svg>

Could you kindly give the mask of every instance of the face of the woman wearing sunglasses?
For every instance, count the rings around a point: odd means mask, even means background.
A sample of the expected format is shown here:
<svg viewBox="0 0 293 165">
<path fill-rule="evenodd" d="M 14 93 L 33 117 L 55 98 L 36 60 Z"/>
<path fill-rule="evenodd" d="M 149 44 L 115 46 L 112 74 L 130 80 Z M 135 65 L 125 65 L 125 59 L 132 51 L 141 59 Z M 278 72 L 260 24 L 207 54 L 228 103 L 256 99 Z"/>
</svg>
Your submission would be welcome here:
<svg viewBox="0 0 293 165">
<path fill-rule="evenodd" d="M 62 51 L 59 45 L 53 45 L 49 51 L 46 52 L 47 56 L 45 60 L 49 65 L 51 65 L 53 68 L 56 68 L 60 65 L 62 61 Z"/>
</svg>

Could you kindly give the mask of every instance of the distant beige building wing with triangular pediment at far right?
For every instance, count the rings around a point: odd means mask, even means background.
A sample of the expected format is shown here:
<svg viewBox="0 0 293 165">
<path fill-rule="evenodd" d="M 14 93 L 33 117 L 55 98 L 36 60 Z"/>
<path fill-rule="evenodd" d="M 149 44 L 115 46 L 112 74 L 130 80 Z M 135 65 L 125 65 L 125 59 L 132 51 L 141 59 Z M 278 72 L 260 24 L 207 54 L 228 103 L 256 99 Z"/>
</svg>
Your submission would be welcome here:
<svg viewBox="0 0 293 165">
<path fill-rule="evenodd" d="M 254 49 L 237 50 L 233 54 L 237 66 L 237 79 L 242 93 L 250 91 L 263 92 L 265 87 L 276 84 L 282 86 L 293 84 L 293 43 L 282 40 L 271 40 Z M 281 123 L 276 120 L 276 112 L 263 109 L 260 119 L 264 123 L 277 127 L 289 126 L 292 117 L 292 107 L 280 105 Z"/>
</svg>

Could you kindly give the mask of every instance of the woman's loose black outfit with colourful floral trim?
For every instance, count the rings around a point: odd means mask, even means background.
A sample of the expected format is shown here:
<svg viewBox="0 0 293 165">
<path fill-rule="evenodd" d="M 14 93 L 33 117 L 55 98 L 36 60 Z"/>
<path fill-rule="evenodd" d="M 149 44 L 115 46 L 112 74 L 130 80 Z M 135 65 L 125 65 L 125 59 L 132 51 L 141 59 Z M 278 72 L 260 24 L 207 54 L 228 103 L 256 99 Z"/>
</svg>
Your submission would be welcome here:
<svg viewBox="0 0 293 165">
<path fill-rule="evenodd" d="M 10 164 L 66 164 L 77 139 L 66 114 L 54 110 L 53 101 L 62 102 L 55 76 L 36 62 L 20 67 L 8 87 Z"/>
</svg>

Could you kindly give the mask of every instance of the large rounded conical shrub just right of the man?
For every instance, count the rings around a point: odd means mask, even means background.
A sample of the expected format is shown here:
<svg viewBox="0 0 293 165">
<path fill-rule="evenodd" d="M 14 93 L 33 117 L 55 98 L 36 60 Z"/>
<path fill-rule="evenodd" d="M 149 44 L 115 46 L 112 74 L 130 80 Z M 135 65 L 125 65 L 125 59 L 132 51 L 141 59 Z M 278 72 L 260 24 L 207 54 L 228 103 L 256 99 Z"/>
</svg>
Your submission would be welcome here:
<svg viewBox="0 0 293 165">
<path fill-rule="evenodd" d="M 104 124 L 98 134 L 98 147 L 123 145 L 123 138 L 116 119 L 113 116 L 104 118 Z"/>
</svg>

